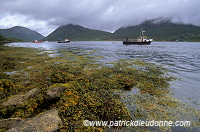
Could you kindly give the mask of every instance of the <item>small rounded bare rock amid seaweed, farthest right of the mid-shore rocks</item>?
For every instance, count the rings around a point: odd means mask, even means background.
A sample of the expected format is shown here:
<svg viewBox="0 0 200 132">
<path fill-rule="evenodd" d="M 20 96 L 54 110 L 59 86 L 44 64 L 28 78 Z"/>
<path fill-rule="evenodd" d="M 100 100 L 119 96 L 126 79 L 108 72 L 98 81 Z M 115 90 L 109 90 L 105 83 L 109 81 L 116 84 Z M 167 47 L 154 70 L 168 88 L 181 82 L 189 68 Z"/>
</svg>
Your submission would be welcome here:
<svg viewBox="0 0 200 132">
<path fill-rule="evenodd" d="M 51 99 L 59 98 L 65 89 L 64 87 L 52 87 L 47 90 L 47 95 Z"/>
</svg>

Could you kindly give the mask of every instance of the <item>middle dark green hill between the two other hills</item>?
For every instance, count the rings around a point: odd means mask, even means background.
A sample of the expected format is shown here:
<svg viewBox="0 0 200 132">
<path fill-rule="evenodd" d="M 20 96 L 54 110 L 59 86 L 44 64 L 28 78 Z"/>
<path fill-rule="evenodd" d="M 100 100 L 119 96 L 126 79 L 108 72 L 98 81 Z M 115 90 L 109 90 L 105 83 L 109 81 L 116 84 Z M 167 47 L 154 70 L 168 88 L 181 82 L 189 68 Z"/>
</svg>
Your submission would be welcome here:
<svg viewBox="0 0 200 132">
<path fill-rule="evenodd" d="M 80 25 L 68 24 L 58 27 L 55 31 L 47 36 L 49 41 L 57 41 L 58 39 L 68 38 L 71 41 L 84 41 L 84 40 L 109 40 L 114 38 L 114 34 L 93 30 L 82 27 Z"/>
</svg>

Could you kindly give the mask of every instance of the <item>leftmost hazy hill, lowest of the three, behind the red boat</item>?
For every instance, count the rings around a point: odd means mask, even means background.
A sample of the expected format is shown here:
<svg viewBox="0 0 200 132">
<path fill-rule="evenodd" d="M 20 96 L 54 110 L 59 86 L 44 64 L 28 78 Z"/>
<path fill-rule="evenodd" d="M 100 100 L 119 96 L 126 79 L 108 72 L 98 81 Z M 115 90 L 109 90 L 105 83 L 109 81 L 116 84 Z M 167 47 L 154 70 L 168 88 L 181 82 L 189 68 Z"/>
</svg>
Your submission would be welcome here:
<svg viewBox="0 0 200 132">
<path fill-rule="evenodd" d="M 41 40 L 44 38 L 43 35 L 31 29 L 15 26 L 9 29 L 0 29 L 0 35 L 9 38 L 21 39 L 23 41 Z"/>
</svg>

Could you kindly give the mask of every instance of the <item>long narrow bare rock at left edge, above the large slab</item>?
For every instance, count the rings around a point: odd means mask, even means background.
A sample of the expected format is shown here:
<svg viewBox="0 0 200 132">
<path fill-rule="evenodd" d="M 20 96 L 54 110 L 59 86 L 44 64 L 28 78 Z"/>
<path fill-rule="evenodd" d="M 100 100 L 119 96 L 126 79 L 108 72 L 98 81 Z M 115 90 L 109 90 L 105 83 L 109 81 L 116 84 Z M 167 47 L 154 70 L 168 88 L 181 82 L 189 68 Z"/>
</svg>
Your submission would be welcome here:
<svg viewBox="0 0 200 132">
<path fill-rule="evenodd" d="M 36 96 L 39 93 L 39 89 L 34 88 L 27 92 L 24 95 L 15 95 L 9 98 L 7 101 L 3 102 L 2 106 L 12 106 L 12 105 L 20 105 L 26 102 L 28 99 Z"/>
</svg>

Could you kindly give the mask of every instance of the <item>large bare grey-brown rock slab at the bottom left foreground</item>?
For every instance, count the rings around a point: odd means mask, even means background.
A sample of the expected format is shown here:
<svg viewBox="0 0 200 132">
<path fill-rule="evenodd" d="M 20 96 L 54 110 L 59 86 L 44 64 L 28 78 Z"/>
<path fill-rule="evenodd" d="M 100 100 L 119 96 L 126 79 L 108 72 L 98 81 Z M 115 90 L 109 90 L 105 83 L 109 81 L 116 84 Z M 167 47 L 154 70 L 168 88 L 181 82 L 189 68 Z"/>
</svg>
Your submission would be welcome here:
<svg viewBox="0 0 200 132">
<path fill-rule="evenodd" d="M 56 109 L 47 111 L 33 118 L 17 122 L 7 132 L 53 132 L 59 129 L 62 121 Z"/>
</svg>

